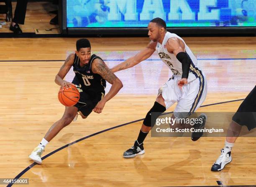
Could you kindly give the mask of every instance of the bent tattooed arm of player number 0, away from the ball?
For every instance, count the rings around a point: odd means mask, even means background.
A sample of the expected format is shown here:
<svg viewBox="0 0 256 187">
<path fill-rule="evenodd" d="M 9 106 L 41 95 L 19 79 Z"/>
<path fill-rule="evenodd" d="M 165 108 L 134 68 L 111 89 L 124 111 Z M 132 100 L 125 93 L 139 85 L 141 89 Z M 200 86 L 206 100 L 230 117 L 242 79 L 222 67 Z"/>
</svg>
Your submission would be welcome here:
<svg viewBox="0 0 256 187">
<path fill-rule="evenodd" d="M 106 94 L 105 97 L 103 97 L 103 99 L 100 100 L 100 102 L 98 102 L 96 107 L 93 109 L 94 112 L 100 113 L 105 106 L 105 103 L 119 92 L 119 90 L 123 87 L 123 84 L 99 58 L 93 60 L 92 72 L 99 74 L 112 85 L 108 94 Z"/>
</svg>

